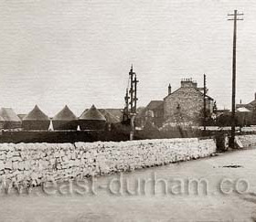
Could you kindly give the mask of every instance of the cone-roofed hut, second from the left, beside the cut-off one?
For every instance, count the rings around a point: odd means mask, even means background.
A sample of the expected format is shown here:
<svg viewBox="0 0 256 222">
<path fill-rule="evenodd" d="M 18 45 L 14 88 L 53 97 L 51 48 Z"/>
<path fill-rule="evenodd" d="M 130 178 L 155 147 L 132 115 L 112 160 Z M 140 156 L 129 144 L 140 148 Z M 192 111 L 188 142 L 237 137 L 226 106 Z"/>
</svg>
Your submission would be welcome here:
<svg viewBox="0 0 256 222">
<path fill-rule="evenodd" d="M 48 131 L 50 120 L 36 105 L 22 120 L 22 128 L 28 131 Z"/>
</svg>

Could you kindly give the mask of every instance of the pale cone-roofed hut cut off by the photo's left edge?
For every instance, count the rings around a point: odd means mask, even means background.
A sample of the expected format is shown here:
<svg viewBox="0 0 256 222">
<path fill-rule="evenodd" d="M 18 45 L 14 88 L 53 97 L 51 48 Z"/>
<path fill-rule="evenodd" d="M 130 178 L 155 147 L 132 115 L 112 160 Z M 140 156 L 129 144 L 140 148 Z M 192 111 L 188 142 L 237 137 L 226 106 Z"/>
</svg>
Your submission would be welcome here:
<svg viewBox="0 0 256 222">
<path fill-rule="evenodd" d="M 12 108 L 2 108 L 0 116 L 4 119 L 4 129 L 21 128 L 21 120 L 16 115 Z"/>
</svg>

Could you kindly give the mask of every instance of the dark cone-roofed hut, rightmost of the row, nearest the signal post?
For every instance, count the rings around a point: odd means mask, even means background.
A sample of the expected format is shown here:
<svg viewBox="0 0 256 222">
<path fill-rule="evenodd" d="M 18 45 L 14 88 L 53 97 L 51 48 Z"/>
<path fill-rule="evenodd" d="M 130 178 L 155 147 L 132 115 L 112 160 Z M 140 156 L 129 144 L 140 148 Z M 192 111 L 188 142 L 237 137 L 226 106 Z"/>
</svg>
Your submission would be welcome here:
<svg viewBox="0 0 256 222">
<path fill-rule="evenodd" d="M 106 118 L 92 105 L 88 111 L 83 111 L 79 118 L 81 131 L 86 130 L 104 130 Z"/>
</svg>

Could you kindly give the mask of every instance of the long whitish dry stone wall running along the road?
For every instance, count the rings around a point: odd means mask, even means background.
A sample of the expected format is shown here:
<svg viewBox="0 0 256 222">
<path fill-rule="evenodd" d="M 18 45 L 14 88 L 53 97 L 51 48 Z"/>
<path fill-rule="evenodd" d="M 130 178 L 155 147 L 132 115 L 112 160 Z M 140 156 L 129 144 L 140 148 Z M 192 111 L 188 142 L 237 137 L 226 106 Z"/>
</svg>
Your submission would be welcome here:
<svg viewBox="0 0 256 222">
<path fill-rule="evenodd" d="M 213 139 L 165 139 L 95 143 L 2 143 L 0 180 L 41 185 L 154 165 L 187 161 L 216 152 Z"/>
</svg>

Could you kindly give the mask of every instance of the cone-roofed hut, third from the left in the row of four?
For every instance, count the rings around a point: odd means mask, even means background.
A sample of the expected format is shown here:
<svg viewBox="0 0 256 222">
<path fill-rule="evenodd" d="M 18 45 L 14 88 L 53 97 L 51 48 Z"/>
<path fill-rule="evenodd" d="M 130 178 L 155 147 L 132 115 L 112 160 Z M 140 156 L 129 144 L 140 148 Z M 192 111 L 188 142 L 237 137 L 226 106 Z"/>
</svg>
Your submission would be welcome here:
<svg viewBox="0 0 256 222">
<path fill-rule="evenodd" d="M 69 110 L 66 105 L 59 113 L 57 113 L 52 118 L 53 129 L 55 131 L 59 130 L 77 130 L 78 128 L 78 118 L 76 115 Z"/>
</svg>

